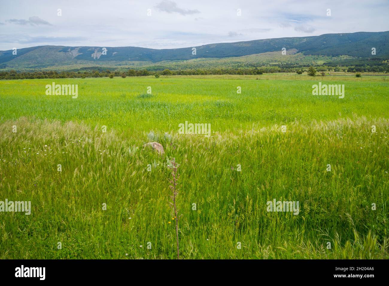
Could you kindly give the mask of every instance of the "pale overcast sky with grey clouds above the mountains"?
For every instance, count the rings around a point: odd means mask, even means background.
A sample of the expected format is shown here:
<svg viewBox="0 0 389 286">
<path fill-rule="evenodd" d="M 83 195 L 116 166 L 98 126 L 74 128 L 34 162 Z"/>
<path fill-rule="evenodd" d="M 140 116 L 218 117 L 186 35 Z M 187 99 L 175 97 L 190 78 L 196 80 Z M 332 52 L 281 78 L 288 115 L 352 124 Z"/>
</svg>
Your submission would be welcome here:
<svg viewBox="0 0 389 286">
<path fill-rule="evenodd" d="M 1 0 L 0 4 L 0 50 L 37 45 L 170 49 L 389 30 L 387 0 Z"/>
</svg>

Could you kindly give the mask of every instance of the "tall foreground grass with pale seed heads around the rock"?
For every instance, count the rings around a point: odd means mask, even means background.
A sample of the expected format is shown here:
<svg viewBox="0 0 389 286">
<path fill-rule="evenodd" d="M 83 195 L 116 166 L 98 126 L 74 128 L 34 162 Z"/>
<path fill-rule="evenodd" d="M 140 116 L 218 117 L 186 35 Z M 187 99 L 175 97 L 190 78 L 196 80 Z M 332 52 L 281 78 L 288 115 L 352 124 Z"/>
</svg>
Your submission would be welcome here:
<svg viewBox="0 0 389 286">
<path fill-rule="evenodd" d="M 286 133 L 254 122 L 210 138 L 156 130 L 180 164 L 180 257 L 388 258 L 388 127 L 356 116 Z M 147 141 L 74 121 L 4 121 L 0 200 L 32 201 L 32 214 L 0 213 L 0 258 L 175 258 L 170 170 L 140 150 Z M 299 215 L 267 212 L 272 199 L 299 201 Z"/>
</svg>

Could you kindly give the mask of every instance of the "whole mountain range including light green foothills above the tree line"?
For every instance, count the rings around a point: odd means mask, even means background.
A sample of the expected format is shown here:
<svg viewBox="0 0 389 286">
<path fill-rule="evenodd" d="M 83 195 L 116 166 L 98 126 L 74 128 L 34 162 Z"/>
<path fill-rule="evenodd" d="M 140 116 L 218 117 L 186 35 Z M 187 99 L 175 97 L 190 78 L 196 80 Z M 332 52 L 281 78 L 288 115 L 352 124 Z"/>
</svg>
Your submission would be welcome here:
<svg viewBox="0 0 389 286">
<path fill-rule="evenodd" d="M 195 48 L 195 49 L 194 49 Z M 285 48 L 286 55 L 282 54 Z M 376 54 L 372 54 L 375 48 Z M 274 63 L 331 63 L 389 59 L 389 31 L 324 34 L 207 44 L 179 49 L 44 45 L 0 51 L 3 70 L 111 68 L 203 68 Z"/>
</svg>

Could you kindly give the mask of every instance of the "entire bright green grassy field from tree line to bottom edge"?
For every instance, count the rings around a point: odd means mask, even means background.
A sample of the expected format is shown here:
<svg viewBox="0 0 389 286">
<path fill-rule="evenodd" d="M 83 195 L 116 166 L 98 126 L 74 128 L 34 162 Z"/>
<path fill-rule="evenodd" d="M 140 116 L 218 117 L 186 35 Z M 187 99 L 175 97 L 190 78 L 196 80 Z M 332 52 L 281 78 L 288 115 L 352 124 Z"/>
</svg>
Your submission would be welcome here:
<svg viewBox="0 0 389 286">
<path fill-rule="evenodd" d="M 78 97 L 46 95 L 53 81 Z M 344 84 L 344 98 L 312 95 L 319 82 Z M 176 258 L 166 157 L 179 163 L 180 258 L 387 259 L 388 86 L 294 74 L 0 80 L 0 201 L 32 207 L 0 212 L 0 259 Z M 179 134 L 186 121 L 211 136 Z M 142 150 L 153 141 L 165 155 Z M 268 212 L 273 199 L 298 201 L 298 215 Z"/>
</svg>

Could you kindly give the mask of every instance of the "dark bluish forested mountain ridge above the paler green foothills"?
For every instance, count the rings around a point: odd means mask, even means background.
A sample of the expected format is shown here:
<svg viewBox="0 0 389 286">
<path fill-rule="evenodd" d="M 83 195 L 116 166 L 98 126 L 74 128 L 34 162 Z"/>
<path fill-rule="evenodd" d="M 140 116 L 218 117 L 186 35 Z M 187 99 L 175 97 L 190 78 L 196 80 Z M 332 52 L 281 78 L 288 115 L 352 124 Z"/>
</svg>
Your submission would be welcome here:
<svg viewBox="0 0 389 286">
<path fill-rule="evenodd" d="M 372 48 L 376 55 L 371 54 Z M 106 54 L 103 52 L 105 48 Z M 196 48 L 196 54 L 193 54 Z M 154 65 L 162 61 L 188 61 L 202 58 L 233 58 L 292 49 L 304 56 L 350 56 L 361 59 L 389 59 L 389 31 L 323 34 L 230 43 L 214 43 L 177 49 L 144 47 L 98 47 L 40 45 L 0 51 L 0 69 L 47 68 L 69 65 Z"/>
</svg>

